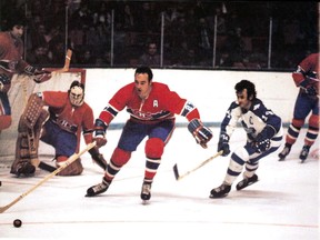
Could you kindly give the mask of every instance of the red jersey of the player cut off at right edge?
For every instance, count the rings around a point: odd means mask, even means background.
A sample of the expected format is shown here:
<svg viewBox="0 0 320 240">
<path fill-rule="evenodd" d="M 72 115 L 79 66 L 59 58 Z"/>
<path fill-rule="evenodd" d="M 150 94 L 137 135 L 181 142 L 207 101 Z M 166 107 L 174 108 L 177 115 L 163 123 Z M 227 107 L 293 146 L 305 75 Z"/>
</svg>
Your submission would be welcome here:
<svg viewBox="0 0 320 240">
<path fill-rule="evenodd" d="M 292 73 L 293 81 L 297 87 L 304 81 L 306 77 L 310 77 L 309 86 L 316 87 L 319 93 L 319 53 L 311 53 L 303 59 L 298 66 L 297 71 Z"/>
</svg>

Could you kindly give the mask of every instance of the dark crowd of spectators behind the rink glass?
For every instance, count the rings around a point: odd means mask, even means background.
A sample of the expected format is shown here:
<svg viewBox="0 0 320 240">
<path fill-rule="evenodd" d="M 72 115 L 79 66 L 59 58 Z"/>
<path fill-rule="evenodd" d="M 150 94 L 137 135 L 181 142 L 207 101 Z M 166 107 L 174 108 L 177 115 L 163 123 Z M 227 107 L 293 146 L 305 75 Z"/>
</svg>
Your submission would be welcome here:
<svg viewBox="0 0 320 240">
<path fill-rule="evenodd" d="M 33 64 L 183 69 L 293 69 L 319 51 L 317 1 L 0 0 L 1 30 L 28 19 Z"/>
</svg>

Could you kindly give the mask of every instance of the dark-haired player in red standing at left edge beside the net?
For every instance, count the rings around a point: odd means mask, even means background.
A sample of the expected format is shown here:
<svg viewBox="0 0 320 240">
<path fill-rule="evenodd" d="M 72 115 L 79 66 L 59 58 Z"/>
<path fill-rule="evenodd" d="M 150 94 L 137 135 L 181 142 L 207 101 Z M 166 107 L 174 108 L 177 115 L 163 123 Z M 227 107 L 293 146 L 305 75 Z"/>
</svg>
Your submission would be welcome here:
<svg viewBox="0 0 320 240">
<path fill-rule="evenodd" d="M 33 76 L 36 82 L 43 82 L 51 74 L 39 70 L 22 59 L 23 42 L 21 37 L 24 31 L 26 19 L 14 14 L 8 20 L 8 31 L 0 32 L 0 132 L 11 126 L 11 107 L 8 91 L 14 73 Z"/>
</svg>

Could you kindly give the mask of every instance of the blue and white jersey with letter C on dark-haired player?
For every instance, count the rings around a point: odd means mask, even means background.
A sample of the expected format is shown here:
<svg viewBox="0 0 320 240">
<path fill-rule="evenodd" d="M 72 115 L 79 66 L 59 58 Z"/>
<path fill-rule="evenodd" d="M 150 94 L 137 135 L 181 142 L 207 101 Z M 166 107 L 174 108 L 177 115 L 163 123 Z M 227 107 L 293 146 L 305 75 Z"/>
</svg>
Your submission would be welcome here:
<svg viewBox="0 0 320 240">
<path fill-rule="evenodd" d="M 238 101 L 233 101 L 226 113 L 220 131 L 226 132 L 230 138 L 238 122 L 247 132 L 248 141 L 256 139 L 266 126 L 272 127 L 277 132 L 272 139 L 283 134 L 280 117 L 267 109 L 260 99 L 254 99 L 249 110 L 241 108 Z"/>
</svg>

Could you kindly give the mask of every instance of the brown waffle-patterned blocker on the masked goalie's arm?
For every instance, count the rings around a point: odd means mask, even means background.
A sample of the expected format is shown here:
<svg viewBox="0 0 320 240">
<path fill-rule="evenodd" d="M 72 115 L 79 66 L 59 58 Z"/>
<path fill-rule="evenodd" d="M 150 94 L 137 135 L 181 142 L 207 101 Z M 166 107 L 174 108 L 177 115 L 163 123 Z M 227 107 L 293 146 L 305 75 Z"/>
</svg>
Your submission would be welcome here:
<svg viewBox="0 0 320 240">
<path fill-rule="evenodd" d="M 41 114 L 42 107 L 42 99 L 37 93 L 32 93 L 27 102 L 23 113 L 21 114 L 21 127 L 27 126 L 29 129 L 33 129 Z"/>
</svg>

